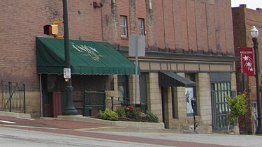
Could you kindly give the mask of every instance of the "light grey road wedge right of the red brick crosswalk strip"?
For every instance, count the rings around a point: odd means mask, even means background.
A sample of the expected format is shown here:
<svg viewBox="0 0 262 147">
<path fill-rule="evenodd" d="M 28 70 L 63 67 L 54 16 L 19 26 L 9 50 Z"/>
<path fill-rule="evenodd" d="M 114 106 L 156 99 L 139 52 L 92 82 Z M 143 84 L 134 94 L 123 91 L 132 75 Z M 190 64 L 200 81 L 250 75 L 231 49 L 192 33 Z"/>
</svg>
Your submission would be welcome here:
<svg viewBox="0 0 262 147">
<path fill-rule="evenodd" d="M 101 132 L 128 137 L 145 137 L 148 139 L 165 139 L 168 141 L 181 141 L 199 146 L 201 144 L 215 144 L 217 146 L 261 147 L 262 136 L 235 135 L 235 134 L 184 134 L 184 133 L 137 133 L 137 132 Z M 207 145 L 205 145 L 207 146 Z"/>
</svg>

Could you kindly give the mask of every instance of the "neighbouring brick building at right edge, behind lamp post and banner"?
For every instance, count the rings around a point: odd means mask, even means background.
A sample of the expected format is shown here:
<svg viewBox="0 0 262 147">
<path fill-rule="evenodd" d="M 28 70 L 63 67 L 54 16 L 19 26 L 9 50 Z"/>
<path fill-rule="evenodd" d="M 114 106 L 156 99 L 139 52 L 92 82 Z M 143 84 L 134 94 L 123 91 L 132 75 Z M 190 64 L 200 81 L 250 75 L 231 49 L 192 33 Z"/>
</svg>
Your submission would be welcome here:
<svg viewBox="0 0 262 147">
<path fill-rule="evenodd" d="M 250 29 L 255 25 L 256 29 L 262 31 L 262 9 L 252 10 L 245 7 L 245 5 L 239 8 L 233 8 L 233 28 L 235 38 L 235 54 L 239 56 L 238 47 L 253 47 L 252 37 L 250 36 Z M 262 36 L 259 36 L 258 42 L 262 42 Z M 259 43 L 259 54 L 261 54 L 261 45 Z M 259 56 L 259 61 L 262 61 L 262 56 Z M 262 64 L 260 63 L 260 69 Z M 236 68 L 239 68 L 239 62 L 236 64 Z M 240 77 L 240 75 L 238 76 Z M 248 77 L 249 89 L 252 90 L 252 98 L 256 100 L 256 84 L 254 77 Z M 241 89 L 238 83 L 238 89 Z"/>
</svg>

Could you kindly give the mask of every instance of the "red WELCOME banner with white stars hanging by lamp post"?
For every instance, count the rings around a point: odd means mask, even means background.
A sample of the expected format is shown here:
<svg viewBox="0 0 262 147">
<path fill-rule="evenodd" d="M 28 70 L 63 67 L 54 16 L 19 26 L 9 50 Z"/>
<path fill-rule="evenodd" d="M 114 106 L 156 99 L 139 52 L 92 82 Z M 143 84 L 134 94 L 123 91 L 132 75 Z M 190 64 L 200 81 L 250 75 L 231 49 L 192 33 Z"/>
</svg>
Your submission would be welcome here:
<svg viewBox="0 0 262 147">
<path fill-rule="evenodd" d="M 255 75 L 254 50 L 252 47 L 240 48 L 240 65 L 241 73 L 246 73 L 248 76 Z"/>
</svg>

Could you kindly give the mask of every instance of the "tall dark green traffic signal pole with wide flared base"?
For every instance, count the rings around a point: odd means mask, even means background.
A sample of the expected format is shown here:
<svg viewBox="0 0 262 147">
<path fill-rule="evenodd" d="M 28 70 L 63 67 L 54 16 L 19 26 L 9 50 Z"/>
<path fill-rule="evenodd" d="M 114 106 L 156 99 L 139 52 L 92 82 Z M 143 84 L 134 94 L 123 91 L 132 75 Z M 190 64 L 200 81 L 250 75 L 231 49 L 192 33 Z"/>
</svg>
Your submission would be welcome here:
<svg viewBox="0 0 262 147">
<path fill-rule="evenodd" d="M 71 68 L 70 52 L 69 52 L 69 31 L 68 31 L 68 14 L 67 14 L 67 1 L 63 0 L 63 19 L 64 19 L 64 56 L 65 68 Z M 78 111 L 73 106 L 73 86 L 71 78 L 66 82 L 66 107 L 63 115 L 78 115 Z"/>
</svg>

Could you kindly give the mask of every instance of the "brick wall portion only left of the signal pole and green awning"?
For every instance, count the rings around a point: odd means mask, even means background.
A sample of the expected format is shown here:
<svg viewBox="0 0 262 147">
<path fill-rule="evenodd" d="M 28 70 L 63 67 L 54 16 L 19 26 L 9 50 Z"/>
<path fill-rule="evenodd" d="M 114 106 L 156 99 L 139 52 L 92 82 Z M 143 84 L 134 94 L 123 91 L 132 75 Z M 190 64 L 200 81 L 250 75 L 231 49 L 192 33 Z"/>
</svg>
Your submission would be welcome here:
<svg viewBox="0 0 262 147">
<path fill-rule="evenodd" d="M 27 91 L 36 91 L 35 37 L 43 36 L 43 25 L 61 15 L 61 3 L 3 0 L 0 7 L 0 79 L 26 84 Z"/>
</svg>

